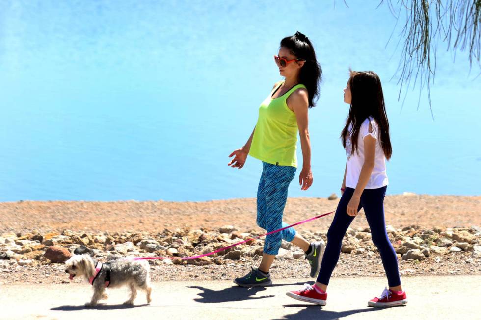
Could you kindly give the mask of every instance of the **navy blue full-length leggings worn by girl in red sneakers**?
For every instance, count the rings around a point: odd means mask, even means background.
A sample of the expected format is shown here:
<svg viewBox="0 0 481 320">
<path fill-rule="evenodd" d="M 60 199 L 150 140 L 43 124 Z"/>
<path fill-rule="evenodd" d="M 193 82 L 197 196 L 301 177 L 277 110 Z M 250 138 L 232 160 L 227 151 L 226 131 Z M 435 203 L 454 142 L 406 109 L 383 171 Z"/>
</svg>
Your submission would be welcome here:
<svg viewBox="0 0 481 320">
<path fill-rule="evenodd" d="M 379 250 L 382 265 L 386 271 L 388 284 L 390 287 L 401 285 L 398 269 L 398 257 L 387 236 L 386 224 L 384 222 L 384 197 L 387 187 L 378 189 L 364 189 L 361 195 L 358 211 L 364 208 L 366 219 L 371 228 L 373 243 Z M 317 281 L 325 285 L 329 284 L 329 278 L 339 260 L 341 246 L 347 228 L 354 220 L 354 217 L 347 214 L 347 204 L 349 203 L 354 189 L 346 188 L 336 209 L 336 215 L 327 231 L 327 246 L 322 257 L 321 271 Z"/>
</svg>

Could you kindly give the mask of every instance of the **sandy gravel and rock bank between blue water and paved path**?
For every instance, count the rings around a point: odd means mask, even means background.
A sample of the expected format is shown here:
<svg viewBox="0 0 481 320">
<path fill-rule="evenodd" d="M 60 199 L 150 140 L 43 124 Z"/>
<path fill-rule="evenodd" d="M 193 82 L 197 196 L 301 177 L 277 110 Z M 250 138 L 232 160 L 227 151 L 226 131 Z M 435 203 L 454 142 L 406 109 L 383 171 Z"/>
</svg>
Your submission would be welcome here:
<svg viewBox="0 0 481 320">
<path fill-rule="evenodd" d="M 334 210 L 337 201 L 290 198 L 285 221 L 293 223 Z M 388 196 L 385 207 L 390 239 L 399 253 L 401 277 L 481 274 L 481 196 Z M 22 201 L 0 203 L 0 215 L 0 284 L 70 282 L 62 264 L 45 258 L 50 246 L 73 252 L 85 244 L 101 260 L 107 254 L 183 257 L 209 251 L 211 247 L 227 246 L 263 232 L 255 225 L 255 199 L 208 202 Z M 326 240 L 325 233 L 332 217 L 329 215 L 296 229 L 307 239 Z M 235 227 L 226 232 L 221 228 L 225 225 Z M 379 254 L 370 242 L 365 217 L 361 214 L 351 226 L 333 276 L 385 276 Z M 200 235 L 204 237 L 202 241 Z M 152 241 L 154 247 L 159 247 L 155 251 L 147 250 L 139 241 Z M 174 257 L 165 262 L 151 261 L 152 279 L 233 279 L 247 273 L 250 266 L 259 264 L 262 245 L 261 239 L 252 246 L 240 246 L 237 255 L 228 252 L 194 262 L 198 265 L 183 264 L 185 262 L 175 261 Z M 177 252 L 168 251 L 171 248 Z M 307 278 L 307 262 L 289 244 L 283 244 L 283 248 L 283 256 L 272 266 L 273 279 Z M 172 261 L 180 264 L 172 264 Z"/>
</svg>

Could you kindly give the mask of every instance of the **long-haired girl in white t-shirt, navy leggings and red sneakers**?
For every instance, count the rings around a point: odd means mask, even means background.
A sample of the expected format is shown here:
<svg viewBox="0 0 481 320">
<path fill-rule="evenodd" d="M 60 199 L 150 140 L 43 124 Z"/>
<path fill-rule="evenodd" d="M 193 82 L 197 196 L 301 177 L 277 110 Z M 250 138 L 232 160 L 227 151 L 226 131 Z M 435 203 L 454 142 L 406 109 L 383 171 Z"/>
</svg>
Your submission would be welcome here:
<svg viewBox="0 0 481 320">
<path fill-rule="evenodd" d="M 353 72 L 344 89 L 344 102 L 350 104 L 346 126 L 341 133 L 347 163 L 341 188 L 342 197 L 327 232 L 327 246 L 321 271 L 314 286 L 287 292 L 301 301 L 326 304 L 327 285 L 341 252 L 344 234 L 364 208 L 374 245 L 379 250 L 389 283 L 379 297 L 368 302 L 373 307 L 391 307 L 407 303 L 399 277 L 398 259 L 389 242 L 384 222 L 384 196 L 388 179 L 385 159 L 391 157 L 381 81 L 372 71 Z"/>
</svg>

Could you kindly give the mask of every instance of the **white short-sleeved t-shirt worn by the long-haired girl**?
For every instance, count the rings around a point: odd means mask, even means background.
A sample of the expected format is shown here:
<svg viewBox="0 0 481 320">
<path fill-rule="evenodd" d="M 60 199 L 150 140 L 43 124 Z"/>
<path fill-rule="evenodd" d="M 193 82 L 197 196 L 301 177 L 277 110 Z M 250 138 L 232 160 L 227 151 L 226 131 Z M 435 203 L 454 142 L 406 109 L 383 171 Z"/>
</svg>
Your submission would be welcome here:
<svg viewBox="0 0 481 320">
<path fill-rule="evenodd" d="M 369 123 L 373 128 L 372 132 L 369 132 Z M 352 126 L 349 127 L 349 132 L 351 132 Z M 361 169 L 364 164 L 364 138 L 370 135 L 376 139 L 376 153 L 374 157 L 374 168 L 369 178 L 368 184 L 365 189 L 377 189 L 387 186 L 388 179 L 386 174 L 386 158 L 384 156 L 384 151 L 381 147 L 379 127 L 376 121 L 372 118 L 366 118 L 361 124 L 358 135 L 357 148 L 359 152 L 354 152 L 351 154 L 351 136 L 348 135 L 346 138 L 346 156 L 347 156 L 347 169 L 346 169 L 346 187 L 356 188 L 357 182 L 359 181 L 359 175 L 361 174 Z"/>
</svg>

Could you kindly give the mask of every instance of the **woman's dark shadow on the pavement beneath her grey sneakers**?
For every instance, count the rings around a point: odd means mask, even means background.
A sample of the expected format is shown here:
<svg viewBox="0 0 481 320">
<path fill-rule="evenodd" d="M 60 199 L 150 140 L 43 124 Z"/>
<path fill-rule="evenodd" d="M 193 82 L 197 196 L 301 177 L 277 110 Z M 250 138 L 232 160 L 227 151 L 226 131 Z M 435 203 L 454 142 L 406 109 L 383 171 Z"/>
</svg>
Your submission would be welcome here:
<svg viewBox="0 0 481 320">
<path fill-rule="evenodd" d="M 201 286 L 187 286 L 187 288 L 194 288 L 202 290 L 201 293 L 197 295 L 200 298 L 195 298 L 194 300 L 201 303 L 221 303 L 221 302 L 231 302 L 231 301 L 242 301 L 242 300 L 257 300 L 257 299 L 264 299 L 264 298 L 271 298 L 274 295 L 262 295 L 262 296 L 253 296 L 256 295 L 260 291 L 264 291 L 269 287 L 279 287 L 279 286 L 292 286 L 292 285 L 302 285 L 305 282 L 297 282 L 297 283 L 285 283 L 285 284 L 273 284 L 267 287 L 253 287 L 253 288 L 244 288 L 240 286 L 232 286 L 229 288 L 225 288 L 222 290 L 212 290 L 209 288 L 201 287 Z"/>
</svg>

